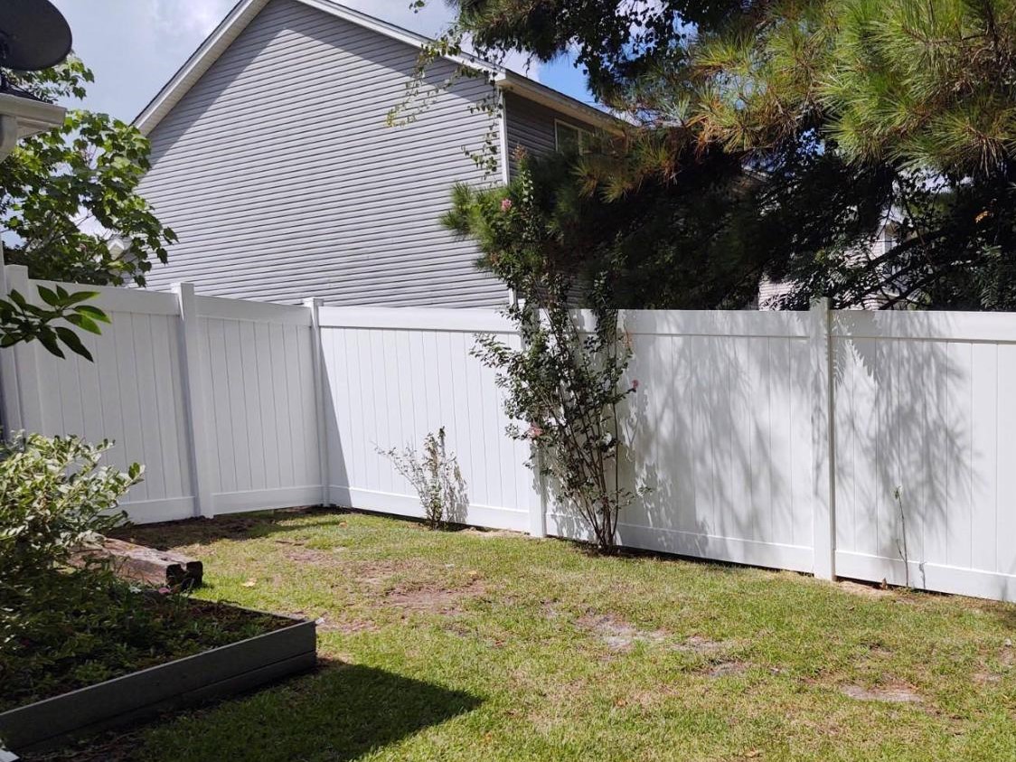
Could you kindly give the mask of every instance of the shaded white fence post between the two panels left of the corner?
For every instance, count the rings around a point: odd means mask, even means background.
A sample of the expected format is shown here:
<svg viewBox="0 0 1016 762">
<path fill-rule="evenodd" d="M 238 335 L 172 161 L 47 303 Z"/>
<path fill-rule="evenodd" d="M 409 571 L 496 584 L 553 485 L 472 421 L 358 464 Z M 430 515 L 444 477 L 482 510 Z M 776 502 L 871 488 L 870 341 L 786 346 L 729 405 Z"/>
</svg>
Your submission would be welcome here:
<svg viewBox="0 0 1016 762">
<path fill-rule="evenodd" d="M 180 306 L 181 375 L 184 407 L 189 434 L 194 515 L 211 518 L 215 515 L 211 494 L 211 445 L 208 419 L 204 409 L 204 367 L 201 361 L 201 334 L 198 323 L 197 299 L 193 283 L 174 283 Z"/>
</svg>

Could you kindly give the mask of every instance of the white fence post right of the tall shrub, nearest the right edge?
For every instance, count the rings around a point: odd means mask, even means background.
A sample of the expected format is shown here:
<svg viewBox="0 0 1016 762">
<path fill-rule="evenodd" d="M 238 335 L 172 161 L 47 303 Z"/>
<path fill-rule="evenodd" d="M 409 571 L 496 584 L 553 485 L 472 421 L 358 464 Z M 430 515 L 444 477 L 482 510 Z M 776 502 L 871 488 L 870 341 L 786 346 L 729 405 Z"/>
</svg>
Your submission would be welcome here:
<svg viewBox="0 0 1016 762">
<path fill-rule="evenodd" d="M 832 340 L 829 300 L 812 303 L 809 312 L 812 347 L 812 452 L 815 462 L 813 512 L 814 573 L 836 578 L 836 448 L 833 430 Z"/>
</svg>

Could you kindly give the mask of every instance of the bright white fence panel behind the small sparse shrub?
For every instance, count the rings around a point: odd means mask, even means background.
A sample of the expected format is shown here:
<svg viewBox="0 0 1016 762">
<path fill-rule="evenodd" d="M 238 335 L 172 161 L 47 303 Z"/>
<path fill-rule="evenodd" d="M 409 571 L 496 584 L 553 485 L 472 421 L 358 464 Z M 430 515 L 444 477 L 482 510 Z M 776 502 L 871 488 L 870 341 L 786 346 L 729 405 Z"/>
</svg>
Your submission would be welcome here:
<svg viewBox="0 0 1016 762">
<path fill-rule="evenodd" d="M 444 427 L 467 486 L 459 520 L 526 530 L 539 506 L 527 447 L 506 435 L 495 374 L 471 356 L 474 333 L 517 345 L 491 310 L 323 308 L 329 393 L 329 490 L 339 505 L 420 516 L 412 486 L 378 452 L 412 446 Z"/>
</svg>

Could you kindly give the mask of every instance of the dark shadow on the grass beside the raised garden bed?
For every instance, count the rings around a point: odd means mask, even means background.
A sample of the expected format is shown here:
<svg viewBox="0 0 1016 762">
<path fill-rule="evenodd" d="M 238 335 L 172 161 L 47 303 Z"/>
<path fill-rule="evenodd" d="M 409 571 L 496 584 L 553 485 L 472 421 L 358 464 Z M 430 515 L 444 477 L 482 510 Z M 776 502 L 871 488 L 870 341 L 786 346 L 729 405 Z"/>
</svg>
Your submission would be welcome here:
<svg viewBox="0 0 1016 762">
<path fill-rule="evenodd" d="M 347 762 L 472 711 L 482 703 L 464 691 L 385 670 L 322 660 L 313 675 L 64 752 L 73 751 L 73 759 L 87 762 Z M 50 762 L 55 758 L 30 759 Z"/>
</svg>

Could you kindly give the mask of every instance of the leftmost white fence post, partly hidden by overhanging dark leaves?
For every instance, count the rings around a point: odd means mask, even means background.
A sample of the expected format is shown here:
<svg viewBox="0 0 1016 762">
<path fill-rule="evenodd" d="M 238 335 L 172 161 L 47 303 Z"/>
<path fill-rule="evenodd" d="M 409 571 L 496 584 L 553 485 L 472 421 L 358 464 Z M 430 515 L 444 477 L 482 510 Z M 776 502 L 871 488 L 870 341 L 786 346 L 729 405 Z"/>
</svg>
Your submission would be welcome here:
<svg viewBox="0 0 1016 762">
<path fill-rule="evenodd" d="M 28 281 L 28 268 L 24 265 L 4 265 L 2 285 L 4 297 L 16 291 L 28 304 L 38 301 Z M 0 363 L 3 418 L 4 425 L 9 426 L 11 431 L 45 432 L 39 351 L 37 341 L 22 341 L 3 351 Z"/>
</svg>

